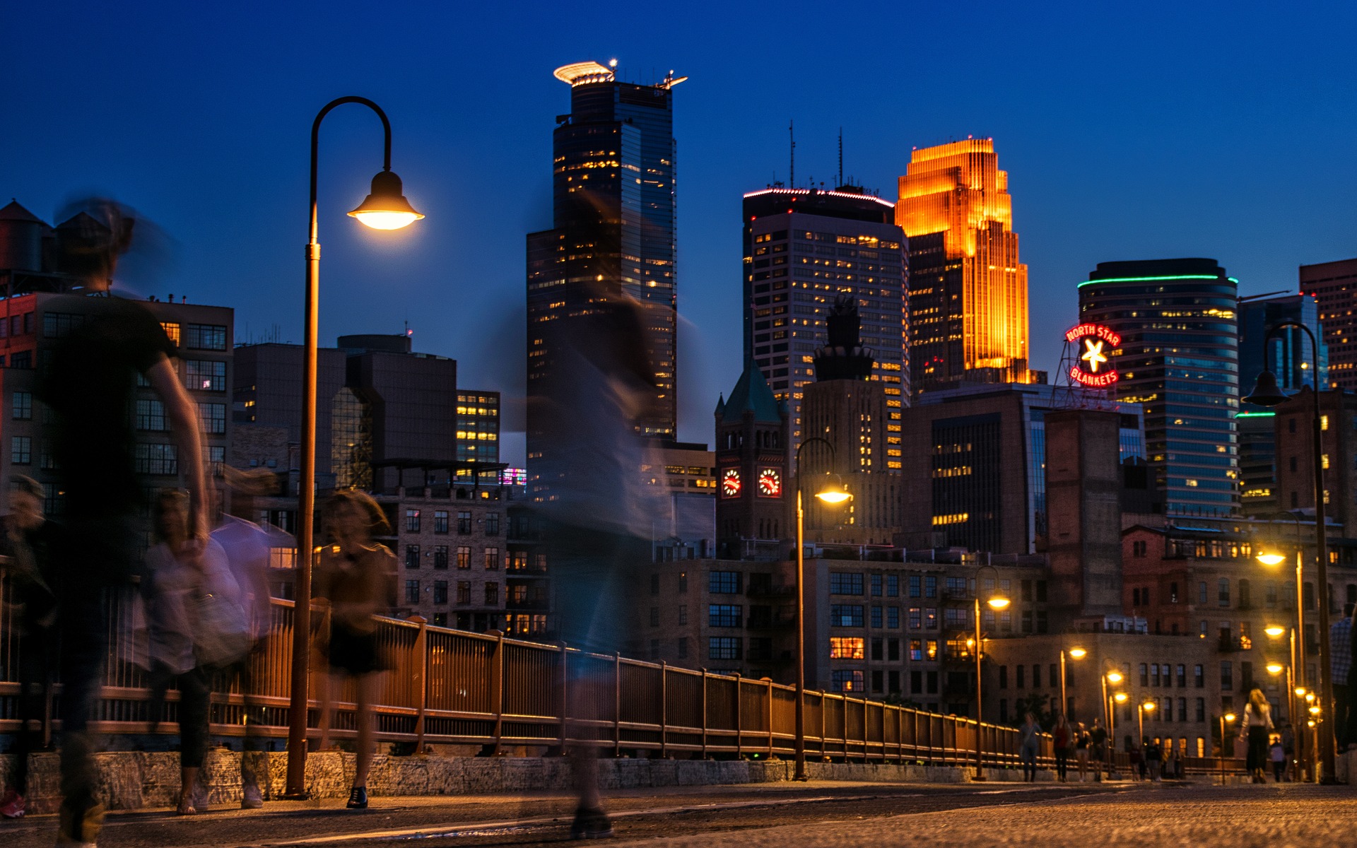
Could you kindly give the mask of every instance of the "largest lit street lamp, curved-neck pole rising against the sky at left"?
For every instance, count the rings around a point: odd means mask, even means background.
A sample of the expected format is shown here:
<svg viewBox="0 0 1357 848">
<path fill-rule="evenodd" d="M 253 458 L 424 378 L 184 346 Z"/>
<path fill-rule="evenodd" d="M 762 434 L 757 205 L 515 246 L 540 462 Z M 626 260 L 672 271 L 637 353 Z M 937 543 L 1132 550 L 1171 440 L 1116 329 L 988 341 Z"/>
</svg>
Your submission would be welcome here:
<svg viewBox="0 0 1357 848">
<path fill-rule="evenodd" d="M 307 242 L 305 330 L 303 339 L 301 457 L 297 503 L 297 575 L 292 619 L 292 699 L 288 714 L 288 784 L 285 798 L 305 798 L 307 786 L 307 691 L 311 636 L 311 560 L 315 554 L 316 512 L 316 334 L 320 316 L 320 242 L 316 229 L 316 171 L 320 157 L 320 122 L 337 106 L 361 103 L 381 118 L 384 152 L 381 171 L 372 178 L 372 191 L 349 216 L 373 229 L 399 229 L 423 216 L 404 198 L 400 178 L 391 171 L 391 121 L 368 98 L 339 98 L 326 103 L 311 125 L 311 233 Z"/>
</svg>

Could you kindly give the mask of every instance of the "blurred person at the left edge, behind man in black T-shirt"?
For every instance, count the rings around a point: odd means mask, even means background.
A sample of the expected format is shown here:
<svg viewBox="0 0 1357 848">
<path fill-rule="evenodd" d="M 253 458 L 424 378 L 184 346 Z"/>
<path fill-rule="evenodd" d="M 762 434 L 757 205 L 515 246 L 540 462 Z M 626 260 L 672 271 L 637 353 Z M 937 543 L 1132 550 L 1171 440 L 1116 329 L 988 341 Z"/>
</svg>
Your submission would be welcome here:
<svg viewBox="0 0 1357 848">
<path fill-rule="evenodd" d="M 57 596 L 52 590 L 49 540 L 53 525 L 42 514 L 42 486 L 33 478 L 15 475 L 9 490 L 9 514 L 0 537 L 0 578 L 9 583 L 0 619 L 8 619 L 11 639 L 22 642 L 19 653 L 19 731 L 9 754 L 14 776 L 0 795 L 0 815 L 19 818 L 27 809 L 28 754 L 46 746 L 43 726 L 52 703 L 52 663 L 56 654 Z"/>
</svg>

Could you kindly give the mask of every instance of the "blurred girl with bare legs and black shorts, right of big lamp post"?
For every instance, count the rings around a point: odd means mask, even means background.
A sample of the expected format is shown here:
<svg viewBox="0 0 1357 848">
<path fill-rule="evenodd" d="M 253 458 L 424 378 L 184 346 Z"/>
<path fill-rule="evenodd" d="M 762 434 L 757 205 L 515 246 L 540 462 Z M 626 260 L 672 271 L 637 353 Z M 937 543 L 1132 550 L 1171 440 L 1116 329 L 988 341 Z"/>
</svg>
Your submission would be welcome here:
<svg viewBox="0 0 1357 848">
<path fill-rule="evenodd" d="M 373 536 L 391 532 L 387 516 L 361 491 L 337 491 L 324 509 L 331 544 L 320 550 L 312 596 L 328 606 L 330 632 L 324 655 L 331 677 L 326 687 L 322 748 L 328 742 L 334 701 L 331 689 L 343 678 L 354 685 L 358 729 L 357 769 L 349 790 L 350 810 L 368 809 L 368 772 L 372 768 L 372 697 L 377 673 L 389 668 L 377 644 L 376 616 L 396 602 L 396 558 Z"/>
</svg>

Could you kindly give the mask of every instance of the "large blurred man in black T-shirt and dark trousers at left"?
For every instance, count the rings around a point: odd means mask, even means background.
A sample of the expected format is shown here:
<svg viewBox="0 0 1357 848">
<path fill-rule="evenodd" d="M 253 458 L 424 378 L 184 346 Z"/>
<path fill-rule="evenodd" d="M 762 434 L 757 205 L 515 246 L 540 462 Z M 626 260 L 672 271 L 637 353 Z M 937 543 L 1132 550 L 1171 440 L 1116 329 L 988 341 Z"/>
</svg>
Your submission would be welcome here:
<svg viewBox="0 0 1357 848">
<path fill-rule="evenodd" d="M 37 400 L 50 412 L 56 488 L 64 495 L 62 529 L 54 536 L 53 581 L 61 642 L 61 810 L 58 844 L 94 845 L 103 824 L 95 798 L 90 715 L 109 653 L 109 590 L 129 586 L 141 571 L 140 516 L 147 503 L 137 478 L 129 410 L 155 396 L 174 438 L 175 467 L 187 484 L 189 540 L 183 556 L 208 537 L 198 406 L 171 360 L 174 342 L 140 303 L 109 293 L 118 256 L 132 246 L 134 218 L 110 201 L 88 201 L 57 240 L 64 270 L 81 278 L 81 294 L 46 301 L 60 319 Z M 149 384 L 149 392 L 138 389 Z"/>
</svg>

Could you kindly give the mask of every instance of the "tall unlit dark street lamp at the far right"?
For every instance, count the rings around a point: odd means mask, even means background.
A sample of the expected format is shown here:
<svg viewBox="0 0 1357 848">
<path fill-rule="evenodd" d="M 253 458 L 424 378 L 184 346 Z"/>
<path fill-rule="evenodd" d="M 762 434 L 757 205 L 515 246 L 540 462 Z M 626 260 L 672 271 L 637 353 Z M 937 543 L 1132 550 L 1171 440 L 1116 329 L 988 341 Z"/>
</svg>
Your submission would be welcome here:
<svg viewBox="0 0 1357 848">
<path fill-rule="evenodd" d="M 1265 357 L 1272 353 L 1272 341 L 1278 331 L 1293 327 L 1305 334 L 1310 339 L 1310 350 L 1314 354 L 1315 370 L 1315 385 L 1312 387 L 1311 396 L 1314 399 L 1314 414 L 1311 421 L 1312 433 L 1312 460 L 1315 472 L 1315 560 L 1316 560 L 1316 574 L 1315 574 L 1315 594 L 1319 602 L 1319 688 L 1323 697 L 1324 714 L 1334 715 L 1334 681 L 1331 668 L 1329 665 L 1329 547 L 1327 539 L 1324 537 L 1324 446 L 1323 446 L 1323 422 L 1319 414 L 1319 342 L 1315 339 L 1315 334 L 1311 332 L 1310 327 L 1300 322 L 1280 322 L 1267 328 L 1267 336 L 1263 339 Z M 1247 403 L 1257 403 L 1263 407 L 1273 407 L 1288 399 L 1281 388 L 1277 385 L 1277 377 L 1272 372 L 1263 370 L 1258 374 L 1258 384 L 1254 385 L 1253 393 L 1244 398 Z M 1299 521 L 1297 521 L 1299 526 Z M 1299 532 L 1299 531 L 1297 531 Z M 1297 611 L 1301 605 L 1301 596 L 1304 594 L 1300 581 L 1300 574 L 1297 568 L 1296 577 L 1296 604 Z M 1300 623 L 1296 623 L 1297 631 L 1301 634 L 1301 643 L 1304 643 L 1304 628 Z M 1300 666 L 1304 670 L 1304 665 Z M 1320 769 L 1323 771 L 1324 783 L 1334 782 L 1334 731 L 1330 726 L 1327 730 L 1319 734 L 1319 758 Z"/>
</svg>

